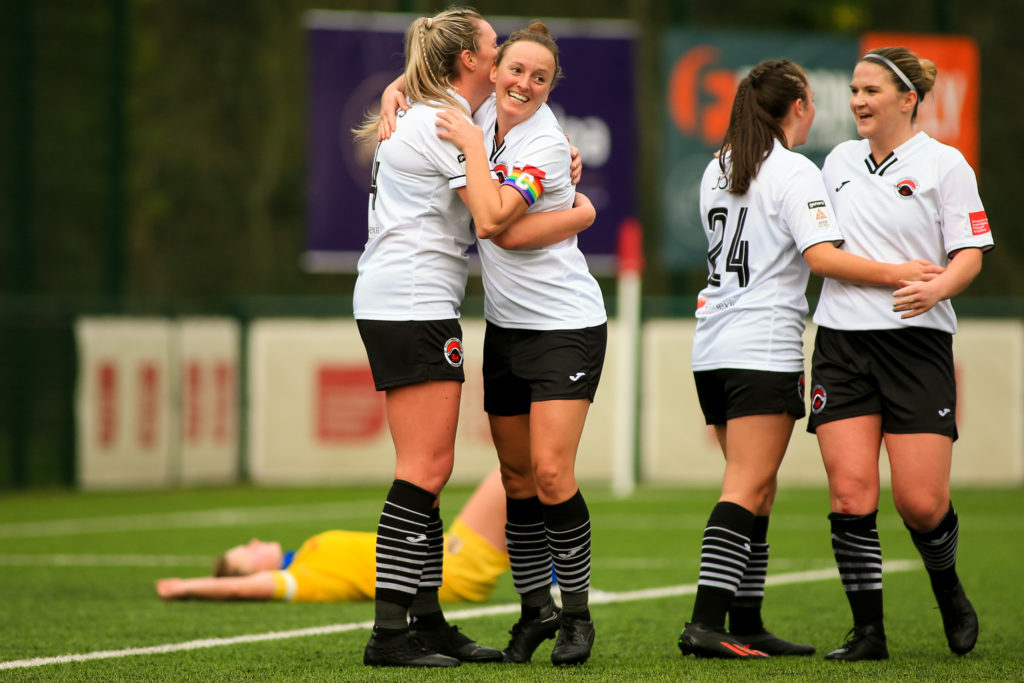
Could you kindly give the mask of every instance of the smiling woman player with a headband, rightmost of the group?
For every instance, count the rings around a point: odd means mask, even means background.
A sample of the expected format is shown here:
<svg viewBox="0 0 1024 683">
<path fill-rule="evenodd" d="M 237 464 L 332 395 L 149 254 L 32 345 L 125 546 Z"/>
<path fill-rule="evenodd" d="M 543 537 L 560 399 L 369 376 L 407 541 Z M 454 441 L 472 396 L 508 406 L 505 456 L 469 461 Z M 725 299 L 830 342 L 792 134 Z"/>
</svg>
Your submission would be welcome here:
<svg viewBox="0 0 1024 683">
<path fill-rule="evenodd" d="M 901 283 L 895 293 L 826 280 L 814 313 L 808 431 L 817 434 L 828 474 L 833 550 L 854 623 L 828 659 L 889 656 L 876 528 L 883 440 L 896 510 L 925 561 L 949 648 L 964 654 L 978 638 L 956 574 L 959 524 L 949 500 L 956 439 L 949 298 L 978 274 L 992 234 L 964 156 L 914 130 L 935 75 L 931 60 L 906 48 L 865 54 L 850 83 L 863 139 L 839 144 L 823 168 L 848 251 L 947 264 L 941 275 Z"/>
</svg>

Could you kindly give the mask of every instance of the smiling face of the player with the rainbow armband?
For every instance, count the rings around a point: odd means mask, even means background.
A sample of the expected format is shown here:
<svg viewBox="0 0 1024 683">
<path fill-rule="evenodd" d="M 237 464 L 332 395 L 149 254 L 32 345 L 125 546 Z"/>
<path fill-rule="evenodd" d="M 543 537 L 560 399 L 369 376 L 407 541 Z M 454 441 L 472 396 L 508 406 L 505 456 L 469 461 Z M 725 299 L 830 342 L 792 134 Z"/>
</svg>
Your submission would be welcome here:
<svg viewBox="0 0 1024 683">
<path fill-rule="evenodd" d="M 554 76 L 555 56 L 547 47 L 529 40 L 509 45 L 492 72 L 500 128 L 508 131 L 531 117 L 548 100 Z"/>
</svg>

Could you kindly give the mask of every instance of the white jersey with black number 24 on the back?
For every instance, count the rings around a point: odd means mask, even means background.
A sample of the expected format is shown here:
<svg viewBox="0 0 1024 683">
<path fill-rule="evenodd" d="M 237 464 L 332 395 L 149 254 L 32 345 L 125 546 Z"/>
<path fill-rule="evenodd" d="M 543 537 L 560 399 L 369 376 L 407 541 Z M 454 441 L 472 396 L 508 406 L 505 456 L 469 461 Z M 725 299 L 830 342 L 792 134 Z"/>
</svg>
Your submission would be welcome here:
<svg viewBox="0 0 1024 683">
<path fill-rule="evenodd" d="M 799 372 L 811 272 L 803 253 L 843 240 L 821 172 L 776 140 L 745 194 L 728 186 L 713 160 L 700 181 L 709 274 L 697 298 L 693 370 Z"/>
</svg>

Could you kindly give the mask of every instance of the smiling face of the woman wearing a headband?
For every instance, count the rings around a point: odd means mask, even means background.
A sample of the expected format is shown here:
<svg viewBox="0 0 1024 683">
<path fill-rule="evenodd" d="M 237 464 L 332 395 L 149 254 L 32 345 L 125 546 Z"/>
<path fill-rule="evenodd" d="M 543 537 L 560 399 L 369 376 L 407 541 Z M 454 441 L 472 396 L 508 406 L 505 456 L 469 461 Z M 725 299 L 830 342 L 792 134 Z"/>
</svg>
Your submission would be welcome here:
<svg viewBox="0 0 1024 683">
<path fill-rule="evenodd" d="M 913 134 L 911 116 L 916 98 L 900 91 L 886 67 L 859 61 L 850 82 L 850 111 L 857 134 L 891 150 Z"/>
</svg>

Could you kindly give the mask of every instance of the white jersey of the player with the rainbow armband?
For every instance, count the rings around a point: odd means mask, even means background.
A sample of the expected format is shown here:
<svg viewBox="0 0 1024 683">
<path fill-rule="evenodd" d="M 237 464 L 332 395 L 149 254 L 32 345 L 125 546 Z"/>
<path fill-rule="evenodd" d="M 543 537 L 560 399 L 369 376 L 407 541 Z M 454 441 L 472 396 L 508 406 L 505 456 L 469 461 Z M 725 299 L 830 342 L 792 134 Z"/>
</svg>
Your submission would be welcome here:
<svg viewBox="0 0 1024 683">
<path fill-rule="evenodd" d="M 522 195 L 528 213 L 572 208 L 569 144 L 547 104 L 506 133 L 501 145 L 493 137 L 494 98 L 477 110 L 475 120 L 492 140 L 493 174 Z M 519 330 L 575 330 L 608 319 L 601 288 L 575 236 L 543 249 L 515 251 L 477 240 L 477 249 L 488 322 Z"/>
</svg>

